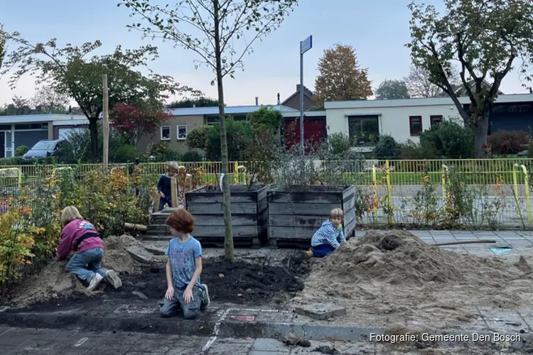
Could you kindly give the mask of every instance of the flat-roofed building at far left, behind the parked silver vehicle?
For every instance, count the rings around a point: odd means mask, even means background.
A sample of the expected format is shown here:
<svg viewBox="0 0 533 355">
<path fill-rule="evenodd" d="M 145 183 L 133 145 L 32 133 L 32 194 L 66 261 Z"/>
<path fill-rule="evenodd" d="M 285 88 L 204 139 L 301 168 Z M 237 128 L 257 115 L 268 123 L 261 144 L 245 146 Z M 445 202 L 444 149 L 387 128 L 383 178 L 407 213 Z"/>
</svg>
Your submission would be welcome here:
<svg viewBox="0 0 533 355">
<path fill-rule="evenodd" d="M 15 155 L 19 146 L 31 148 L 41 139 L 64 138 L 72 129 L 87 127 L 83 115 L 28 114 L 0 116 L 0 158 Z"/>
</svg>

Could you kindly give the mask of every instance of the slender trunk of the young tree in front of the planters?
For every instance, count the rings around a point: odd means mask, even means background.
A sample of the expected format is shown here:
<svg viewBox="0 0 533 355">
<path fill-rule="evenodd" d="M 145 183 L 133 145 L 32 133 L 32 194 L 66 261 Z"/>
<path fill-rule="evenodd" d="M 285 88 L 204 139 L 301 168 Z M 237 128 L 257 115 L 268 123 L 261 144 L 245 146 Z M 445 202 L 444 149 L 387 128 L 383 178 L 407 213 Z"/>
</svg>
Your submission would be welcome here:
<svg viewBox="0 0 533 355">
<path fill-rule="evenodd" d="M 224 253 L 226 260 L 235 261 L 231 214 L 230 162 L 227 158 L 226 116 L 224 111 L 224 86 L 222 84 L 222 53 L 220 52 L 220 9 L 218 0 L 213 0 L 215 25 L 215 60 L 217 62 L 218 114 L 220 116 L 220 151 L 222 153 L 222 209 L 224 210 Z"/>
</svg>

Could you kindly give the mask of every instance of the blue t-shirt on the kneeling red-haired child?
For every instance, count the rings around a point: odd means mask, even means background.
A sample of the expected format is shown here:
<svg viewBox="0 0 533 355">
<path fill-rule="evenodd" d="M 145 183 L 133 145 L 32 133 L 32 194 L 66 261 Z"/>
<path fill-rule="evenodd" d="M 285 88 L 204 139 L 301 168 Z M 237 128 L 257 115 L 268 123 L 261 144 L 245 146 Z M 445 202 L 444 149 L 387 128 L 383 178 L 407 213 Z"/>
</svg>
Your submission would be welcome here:
<svg viewBox="0 0 533 355">
<path fill-rule="evenodd" d="M 200 242 L 193 236 L 184 243 L 180 243 L 179 238 L 171 239 L 165 254 L 171 261 L 174 288 L 185 289 L 196 270 L 196 258 L 202 256 Z M 200 287 L 200 277 L 196 280 L 196 285 Z"/>
</svg>

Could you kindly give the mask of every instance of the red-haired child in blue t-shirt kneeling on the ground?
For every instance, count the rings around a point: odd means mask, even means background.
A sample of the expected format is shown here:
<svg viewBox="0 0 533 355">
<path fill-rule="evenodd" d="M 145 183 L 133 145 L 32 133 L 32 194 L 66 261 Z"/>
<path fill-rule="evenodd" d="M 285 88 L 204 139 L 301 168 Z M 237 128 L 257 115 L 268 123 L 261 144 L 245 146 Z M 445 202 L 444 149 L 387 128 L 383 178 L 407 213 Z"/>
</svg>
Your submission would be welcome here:
<svg viewBox="0 0 533 355">
<path fill-rule="evenodd" d="M 166 290 L 161 315 L 170 317 L 179 306 L 186 320 L 193 320 L 200 310 L 209 306 L 208 286 L 200 284 L 202 273 L 202 246 L 190 235 L 194 229 L 194 217 L 186 209 L 176 209 L 167 219 L 171 239 L 166 249 Z"/>
</svg>

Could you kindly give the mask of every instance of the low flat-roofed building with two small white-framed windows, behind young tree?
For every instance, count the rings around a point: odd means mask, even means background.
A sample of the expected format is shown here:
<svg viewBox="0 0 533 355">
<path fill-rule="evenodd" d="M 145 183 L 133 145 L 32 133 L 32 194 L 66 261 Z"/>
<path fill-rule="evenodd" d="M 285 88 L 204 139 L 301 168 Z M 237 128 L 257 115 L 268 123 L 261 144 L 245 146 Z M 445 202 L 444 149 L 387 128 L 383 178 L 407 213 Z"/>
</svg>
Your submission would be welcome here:
<svg viewBox="0 0 533 355">
<path fill-rule="evenodd" d="M 248 114 L 257 111 L 262 106 L 229 106 L 225 107 L 225 114 L 232 116 L 236 121 L 245 120 Z M 289 112 L 298 112 L 299 110 L 275 105 L 272 108 L 281 111 L 282 114 Z M 137 148 L 139 151 L 146 151 L 151 142 L 168 142 L 178 151 L 185 151 L 185 138 L 188 132 L 197 129 L 204 124 L 218 124 L 220 122 L 218 107 L 187 107 L 182 109 L 169 109 L 172 114 L 171 119 L 162 124 L 158 131 L 152 135 L 141 137 Z"/>
</svg>

